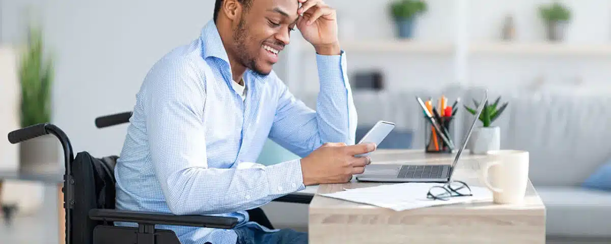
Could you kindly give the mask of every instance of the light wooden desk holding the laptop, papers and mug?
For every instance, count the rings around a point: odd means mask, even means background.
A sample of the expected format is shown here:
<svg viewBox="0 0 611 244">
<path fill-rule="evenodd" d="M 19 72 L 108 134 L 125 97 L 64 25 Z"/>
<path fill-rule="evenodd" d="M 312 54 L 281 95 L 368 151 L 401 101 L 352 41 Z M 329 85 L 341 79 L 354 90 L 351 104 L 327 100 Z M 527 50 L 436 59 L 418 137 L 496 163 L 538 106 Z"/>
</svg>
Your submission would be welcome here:
<svg viewBox="0 0 611 244">
<path fill-rule="evenodd" d="M 380 150 L 373 163 L 452 164 L 454 154 Z M 483 186 L 478 178 L 483 156 L 463 154 L 453 179 Z M 320 185 L 318 193 L 383 183 Z M 397 194 L 409 194 L 398 192 Z M 519 206 L 481 201 L 397 212 L 316 195 L 309 206 L 310 243 L 545 243 L 546 209 L 532 183 Z"/>
</svg>

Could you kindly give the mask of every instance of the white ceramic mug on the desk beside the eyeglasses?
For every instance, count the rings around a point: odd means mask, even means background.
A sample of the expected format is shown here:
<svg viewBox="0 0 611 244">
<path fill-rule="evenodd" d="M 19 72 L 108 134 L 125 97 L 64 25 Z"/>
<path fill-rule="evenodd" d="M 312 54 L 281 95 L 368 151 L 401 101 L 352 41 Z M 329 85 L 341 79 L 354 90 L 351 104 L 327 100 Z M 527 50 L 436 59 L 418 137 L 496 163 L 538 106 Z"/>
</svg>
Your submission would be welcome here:
<svg viewBox="0 0 611 244">
<path fill-rule="evenodd" d="M 521 204 L 529 181 L 529 152 L 488 151 L 482 180 L 493 193 L 494 203 Z"/>
</svg>

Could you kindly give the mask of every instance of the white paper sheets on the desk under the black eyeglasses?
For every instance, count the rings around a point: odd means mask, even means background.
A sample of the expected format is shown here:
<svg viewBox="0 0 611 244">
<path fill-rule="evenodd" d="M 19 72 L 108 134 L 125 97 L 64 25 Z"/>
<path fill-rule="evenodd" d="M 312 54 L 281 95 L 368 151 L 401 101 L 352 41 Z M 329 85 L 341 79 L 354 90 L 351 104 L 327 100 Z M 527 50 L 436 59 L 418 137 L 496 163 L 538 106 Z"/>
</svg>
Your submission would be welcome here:
<svg viewBox="0 0 611 244">
<path fill-rule="evenodd" d="M 343 199 L 355 203 L 386 207 L 396 211 L 417 209 L 420 207 L 439 206 L 469 201 L 492 200 L 492 192 L 485 187 L 472 187 L 473 196 L 452 197 L 448 201 L 426 198 L 431 187 L 441 183 L 400 183 L 379 185 L 376 187 L 346 189 L 341 192 L 319 194 L 330 198 Z"/>
</svg>

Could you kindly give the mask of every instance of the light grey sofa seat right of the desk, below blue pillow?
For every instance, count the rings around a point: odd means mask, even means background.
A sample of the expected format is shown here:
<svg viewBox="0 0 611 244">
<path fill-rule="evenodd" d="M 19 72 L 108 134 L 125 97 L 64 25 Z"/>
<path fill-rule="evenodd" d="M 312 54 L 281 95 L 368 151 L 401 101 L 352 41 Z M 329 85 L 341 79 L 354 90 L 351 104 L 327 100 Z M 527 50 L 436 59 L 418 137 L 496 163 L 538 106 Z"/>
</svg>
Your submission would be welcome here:
<svg viewBox="0 0 611 244">
<path fill-rule="evenodd" d="M 536 187 L 546 206 L 548 235 L 611 237 L 611 192 Z"/>
</svg>

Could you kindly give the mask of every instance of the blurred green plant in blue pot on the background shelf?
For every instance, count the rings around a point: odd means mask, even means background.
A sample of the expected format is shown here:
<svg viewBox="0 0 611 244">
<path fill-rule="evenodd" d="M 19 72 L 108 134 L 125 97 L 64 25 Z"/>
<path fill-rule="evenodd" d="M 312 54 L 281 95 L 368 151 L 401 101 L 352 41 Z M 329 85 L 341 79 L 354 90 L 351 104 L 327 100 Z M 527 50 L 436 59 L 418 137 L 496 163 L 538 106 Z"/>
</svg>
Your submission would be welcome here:
<svg viewBox="0 0 611 244">
<path fill-rule="evenodd" d="M 396 0 L 390 4 L 390 12 L 400 38 L 412 38 L 416 16 L 426 10 L 426 2 L 419 0 Z"/>
</svg>

